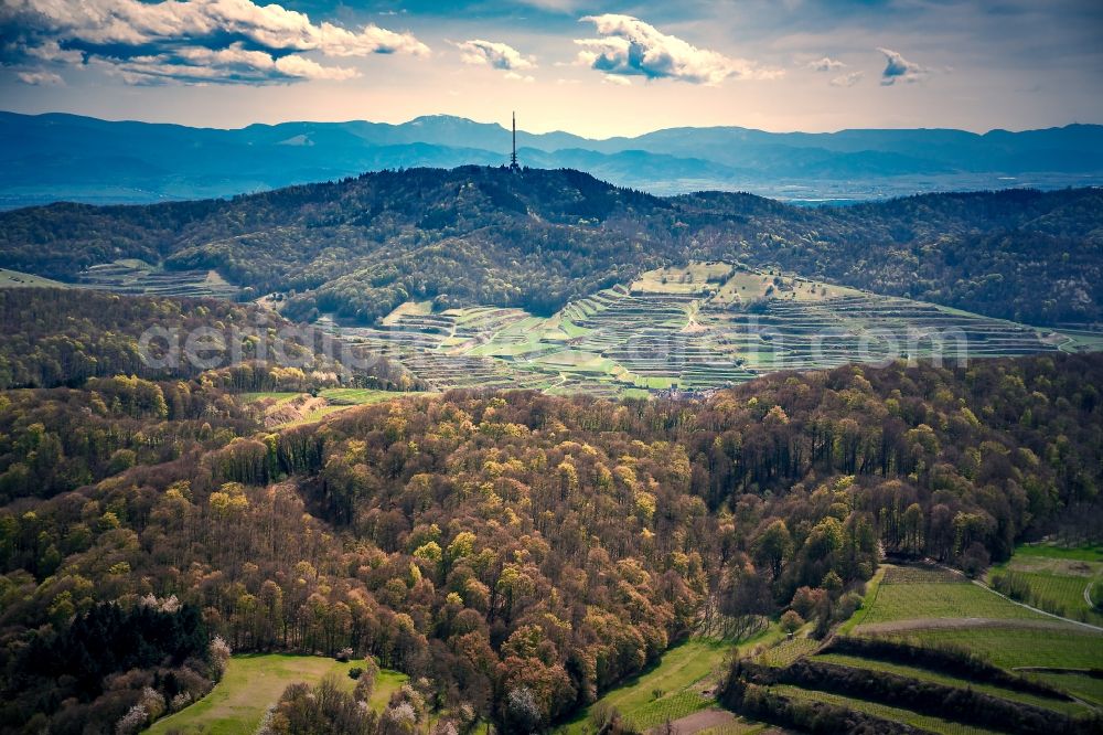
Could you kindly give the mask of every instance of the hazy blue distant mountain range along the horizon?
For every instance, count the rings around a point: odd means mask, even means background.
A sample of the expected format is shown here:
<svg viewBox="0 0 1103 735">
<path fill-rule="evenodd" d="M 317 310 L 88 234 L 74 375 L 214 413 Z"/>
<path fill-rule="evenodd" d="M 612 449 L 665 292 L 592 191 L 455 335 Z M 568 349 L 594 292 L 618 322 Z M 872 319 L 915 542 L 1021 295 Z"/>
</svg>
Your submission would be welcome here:
<svg viewBox="0 0 1103 735">
<path fill-rule="evenodd" d="M 526 166 L 583 170 L 658 194 L 741 190 L 805 203 L 1103 184 L 1100 125 L 984 135 L 672 128 L 606 140 L 518 131 L 517 145 Z M 505 128 L 449 116 L 223 130 L 0 113 L 0 207 L 229 196 L 382 169 L 496 166 L 508 148 Z"/>
</svg>

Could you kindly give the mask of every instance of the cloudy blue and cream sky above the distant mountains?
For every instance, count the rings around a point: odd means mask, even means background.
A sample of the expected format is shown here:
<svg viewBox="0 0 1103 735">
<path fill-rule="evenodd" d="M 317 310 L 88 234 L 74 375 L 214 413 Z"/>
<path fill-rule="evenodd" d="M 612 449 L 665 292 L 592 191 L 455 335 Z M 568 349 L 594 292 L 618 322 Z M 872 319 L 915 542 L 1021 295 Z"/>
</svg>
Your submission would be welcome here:
<svg viewBox="0 0 1103 735">
<path fill-rule="evenodd" d="M 0 0 L 0 109 L 202 127 L 983 132 L 1101 79 L 1103 0 Z"/>
</svg>

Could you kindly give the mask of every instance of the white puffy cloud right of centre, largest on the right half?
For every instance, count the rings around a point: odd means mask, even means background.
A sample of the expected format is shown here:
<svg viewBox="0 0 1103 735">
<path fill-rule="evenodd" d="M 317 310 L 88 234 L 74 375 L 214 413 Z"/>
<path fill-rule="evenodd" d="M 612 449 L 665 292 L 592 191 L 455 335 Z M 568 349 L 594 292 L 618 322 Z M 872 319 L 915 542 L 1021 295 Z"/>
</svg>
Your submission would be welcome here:
<svg viewBox="0 0 1103 735">
<path fill-rule="evenodd" d="M 773 78 L 782 74 L 745 58 L 697 49 L 631 15 L 587 15 L 579 20 L 593 23 L 602 38 L 576 40 L 581 46 L 578 62 L 607 75 L 715 86 L 729 77 Z"/>
</svg>

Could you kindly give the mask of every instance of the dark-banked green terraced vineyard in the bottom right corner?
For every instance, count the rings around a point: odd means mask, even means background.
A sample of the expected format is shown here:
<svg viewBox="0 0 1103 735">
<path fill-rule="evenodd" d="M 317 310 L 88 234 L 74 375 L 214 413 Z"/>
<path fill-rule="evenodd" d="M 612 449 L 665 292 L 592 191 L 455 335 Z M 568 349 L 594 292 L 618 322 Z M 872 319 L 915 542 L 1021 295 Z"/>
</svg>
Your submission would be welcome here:
<svg viewBox="0 0 1103 735">
<path fill-rule="evenodd" d="M 796 637 L 751 660 L 777 671 L 760 685 L 793 702 L 953 735 L 1019 732 L 1024 716 L 1054 728 L 1075 722 L 1092 732 L 1086 718 L 1101 709 L 1099 680 L 1068 670 L 1097 667 L 1101 657 L 1103 632 L 1028 610 L 947 569 L 885 565 L 835 637 Z M 942 707 L 923 688 L 947 700 L 983 702 L 990 718 L 978 718 L 981 704 Z"/>
</svg>

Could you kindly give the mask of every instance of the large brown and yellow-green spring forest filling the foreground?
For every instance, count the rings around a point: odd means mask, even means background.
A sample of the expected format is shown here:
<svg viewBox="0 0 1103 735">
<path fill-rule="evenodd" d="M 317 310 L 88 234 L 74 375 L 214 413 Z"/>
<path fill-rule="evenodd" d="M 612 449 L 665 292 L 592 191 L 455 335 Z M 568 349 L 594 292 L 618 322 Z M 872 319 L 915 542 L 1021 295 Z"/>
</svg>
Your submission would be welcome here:
<svg viewBox="0 0 1103 735">
<path fill-rule="evenodd" d="M 539 731 L 703 616 L 826 629 L 879 544 L 978 574 L 1090 516 L 1103 482 L 1099 355 L 778 373 L 688 402 L 451 392 L 274 432 L 225 369 L 79 377 L 0 395 L 6 732 L 144 724 L 229 650 L 370 654 L 419 682 L 414 710 Z M 75 643 L 119 627 L 142 645 Z M 300 688 L 279 722 L 319 702 L 355 707 Z"/>
</svg>

